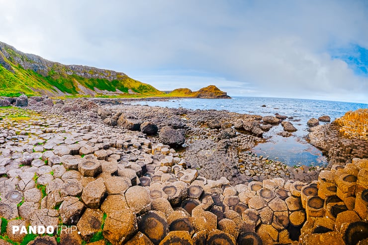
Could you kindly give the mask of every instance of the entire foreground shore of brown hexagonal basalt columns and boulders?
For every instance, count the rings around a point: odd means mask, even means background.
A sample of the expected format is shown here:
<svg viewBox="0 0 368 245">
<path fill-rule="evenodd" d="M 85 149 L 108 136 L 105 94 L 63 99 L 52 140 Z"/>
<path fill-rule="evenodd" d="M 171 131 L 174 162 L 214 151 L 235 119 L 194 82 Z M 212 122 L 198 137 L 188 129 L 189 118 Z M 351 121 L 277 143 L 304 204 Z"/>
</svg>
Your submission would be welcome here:
<svg viewBox="0 0 368 245">
<path fill-rule="evenodd" d="M 368 109 L 311 127 L 324 168 L 252 154 L 275 125 L 295 131 L 282 115 L 46 95 L 0 105 L 1 245 L 368 244 Z M 55 230 L 14 230 L 40 226 Z"/>
</svg>

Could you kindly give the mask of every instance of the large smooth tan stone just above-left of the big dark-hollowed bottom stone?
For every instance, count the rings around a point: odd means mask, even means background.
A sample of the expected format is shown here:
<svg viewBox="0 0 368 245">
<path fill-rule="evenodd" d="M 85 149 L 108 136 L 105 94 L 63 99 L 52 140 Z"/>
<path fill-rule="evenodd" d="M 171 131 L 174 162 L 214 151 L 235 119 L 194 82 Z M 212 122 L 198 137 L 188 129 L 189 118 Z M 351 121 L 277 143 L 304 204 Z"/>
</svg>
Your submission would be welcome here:
<svg viewBox="0 0 368 245">
<path fill-rule="evenodd" d="M 138 215 L 151 210 L 150 193 L 142 186 L 135 185 L 127 189 L 125 199 L 129 208 Z"/>
</svg>

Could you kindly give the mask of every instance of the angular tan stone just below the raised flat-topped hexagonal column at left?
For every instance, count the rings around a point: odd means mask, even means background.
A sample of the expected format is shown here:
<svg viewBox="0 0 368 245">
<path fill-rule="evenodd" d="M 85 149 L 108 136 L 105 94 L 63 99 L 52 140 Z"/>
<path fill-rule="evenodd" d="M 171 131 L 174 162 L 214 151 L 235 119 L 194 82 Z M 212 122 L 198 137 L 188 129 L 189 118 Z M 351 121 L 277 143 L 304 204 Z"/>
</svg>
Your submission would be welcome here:
<svg viewBox="0 0 368 245">
<path fill-rule="evenodd" d="M 89 208 L 99 208 L 106 194 L 106 187 L 102 178 L 98 178 L 86 185 L 82 192 L 82 201 Z"/>
</svg>

